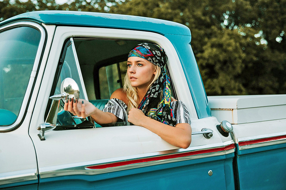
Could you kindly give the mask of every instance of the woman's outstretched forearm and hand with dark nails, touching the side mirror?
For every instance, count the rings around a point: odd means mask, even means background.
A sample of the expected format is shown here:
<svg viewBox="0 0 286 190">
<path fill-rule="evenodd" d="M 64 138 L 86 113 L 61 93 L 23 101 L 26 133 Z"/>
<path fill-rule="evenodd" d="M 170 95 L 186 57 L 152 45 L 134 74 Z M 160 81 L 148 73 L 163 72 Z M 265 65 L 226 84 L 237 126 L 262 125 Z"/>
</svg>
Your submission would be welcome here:
<svg viewBox="0 0 286 190">
<path fill-rule="evenodd" d="M 65 102 L 65 111 L 71 112 L 75 116 L 87 117 L 91 116 L 93 120 L 98 124 L 109 124 L 117 122 L 118 118 L 109 112 L 103 112 L 95 107 L 92 103 L 86 100 L 79 99 Z"/>
</svg>

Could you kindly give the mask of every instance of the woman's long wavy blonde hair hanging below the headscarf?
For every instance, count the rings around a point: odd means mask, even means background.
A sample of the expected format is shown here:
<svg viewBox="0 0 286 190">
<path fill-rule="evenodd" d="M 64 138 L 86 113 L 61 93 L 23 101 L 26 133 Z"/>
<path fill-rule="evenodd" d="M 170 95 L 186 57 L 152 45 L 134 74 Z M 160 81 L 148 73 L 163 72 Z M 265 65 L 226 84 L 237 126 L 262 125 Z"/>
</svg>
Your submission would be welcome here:
<svg viewBox="0 0 286 190">
<path fill-rule="evenodd" d="M 161 68 L 160 66 L 154 65 L 152 64 L 153 68 L 155 69 L 155 76 L 153 81 L 150 83 L 150 85 L 148 86 L 147 90 L 150 88 L 150 86 L 157 80 L 157 78 L 159 77 L 159 75 L 161 74 Z M 124 92 L 127 95 L 127 99 L 128 99 L 128 106 L 127 106 L 127 112 L 131 109 L 131 108 L 138 108 L 138 104 L 137 102 L 140 101 L 138 100 L 138 92 L 136 87 L 131 86 L 131 83 L 129 81 L 128 78 L 128 74 L 126 73 L 125 77 L 124 77 L 124 86 L 123 86 Z"/>
</svg>

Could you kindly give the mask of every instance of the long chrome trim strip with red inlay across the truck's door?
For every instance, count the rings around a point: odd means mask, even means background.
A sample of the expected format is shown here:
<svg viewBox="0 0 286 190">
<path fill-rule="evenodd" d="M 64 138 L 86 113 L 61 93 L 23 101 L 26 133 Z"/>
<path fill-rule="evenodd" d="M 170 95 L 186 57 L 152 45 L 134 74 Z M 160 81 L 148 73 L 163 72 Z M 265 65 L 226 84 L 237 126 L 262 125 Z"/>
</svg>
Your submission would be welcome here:
<svg viewBox="0 0 286 190">
<path fill-rule="evenodd" d="M 226 146 L 228 146 L 228 148 Z M 58 177 L 67 175 L 96 175 L 101 173 L 109 173 L 126 169 L 135 169 L 135 168 L 141 168 L 141 167 L 159 165 L 165 163 L 220 156 L 233 153 L 234 151 L 235 151 L 234 141 L 231 140 L 224 143 L 189 147 L 187 149 L 174 149 L 174 150 L 166 150 L 153 153 L 123 156 L 118 158 L 106 158 L 88 162 L 79 162 L 79 163 L 71 163 L 65 165 L 43 167 L 39 168 L 39 175 L 42 179 L 48 177 Z M 180 155 L 185 155 L 185 156 L 180 156 Z M 153 160 L 148 161 L 148 159 L 153 159 Z M 142 162 L 130 164 L 130 162 L 136 162 L 138 160 Z M 101 168 L 101 169 L 89 168 L 102 165 L 114 165 L 114 166 L 110 167 L 107 166 L 106 168 Z"/>
</svg>

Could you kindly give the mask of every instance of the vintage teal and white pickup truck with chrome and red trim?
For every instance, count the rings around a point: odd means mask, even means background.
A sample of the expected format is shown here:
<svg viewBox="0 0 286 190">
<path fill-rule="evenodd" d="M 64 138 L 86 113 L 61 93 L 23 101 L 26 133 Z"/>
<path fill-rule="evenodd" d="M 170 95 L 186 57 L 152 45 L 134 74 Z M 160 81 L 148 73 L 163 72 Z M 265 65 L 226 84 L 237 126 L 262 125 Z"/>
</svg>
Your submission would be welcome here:
<svg viewBox="0 0 286 190">
<path fill-rule="evenodd" d="M 169 57 L 172 94 L 191 117 L 187 149 L 62 108 L 79 91 L 102 109 L 142 41 Z M 286 189 L 286 95 L 207 97 L 191 44 L 184 25 L 128 15 L 36 11 L 0 22 L 0 188 Z"/>
</svg>

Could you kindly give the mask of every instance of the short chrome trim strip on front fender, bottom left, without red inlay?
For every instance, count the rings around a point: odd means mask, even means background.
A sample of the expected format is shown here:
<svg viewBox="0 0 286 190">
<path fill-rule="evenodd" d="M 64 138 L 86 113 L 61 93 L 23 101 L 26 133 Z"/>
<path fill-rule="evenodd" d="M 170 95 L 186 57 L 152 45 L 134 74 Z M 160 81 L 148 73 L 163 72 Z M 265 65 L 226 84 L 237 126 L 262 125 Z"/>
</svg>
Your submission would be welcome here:
<svg viewBox="0 0 286 190">
<path fill-rule="evenodd" d="M 37 169 L 0 173 L 0 185 L 38 180 Z"/>
</svg>

